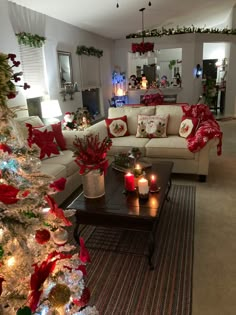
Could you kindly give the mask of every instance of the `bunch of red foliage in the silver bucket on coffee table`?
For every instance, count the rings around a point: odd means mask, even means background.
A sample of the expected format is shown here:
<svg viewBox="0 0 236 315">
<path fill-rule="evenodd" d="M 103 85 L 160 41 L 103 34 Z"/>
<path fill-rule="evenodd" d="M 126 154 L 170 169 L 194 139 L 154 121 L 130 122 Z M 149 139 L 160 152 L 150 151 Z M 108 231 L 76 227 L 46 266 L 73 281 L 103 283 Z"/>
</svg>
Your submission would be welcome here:
<svg viewBox="0 0 236 315">
<path fill-rule="evenodd" d="M 98 134 L 86 135 L 83 138 L 76 137 L 74 155 L 76 156 L 75 162 L 80 167 L 80 174 L 86 174 L 91 170 L 100 170 L 101 173 L 106 172 L 108 167 L 106 156 L 111 145 L 110 138 L 105 137 L 100 141 Z"/>
</svg>

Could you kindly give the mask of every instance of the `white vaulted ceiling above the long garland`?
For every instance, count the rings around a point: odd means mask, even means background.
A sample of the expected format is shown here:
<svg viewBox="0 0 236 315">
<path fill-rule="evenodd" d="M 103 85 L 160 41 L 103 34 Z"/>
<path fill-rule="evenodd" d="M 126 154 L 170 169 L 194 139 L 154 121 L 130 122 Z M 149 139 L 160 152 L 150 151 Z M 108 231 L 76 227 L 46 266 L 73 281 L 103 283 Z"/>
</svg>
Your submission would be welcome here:
<svg viewBox="0 0 236 315">
<path fill-rule="evenodd" d="M 122 39 L 144 28 L 225 24 L 235 0 L 11 0 L 101 36 Z M 116 7 L 117 2 L 119 8 Z M 225 25 L 230 27 L 231 25 Z"/>
</svg>

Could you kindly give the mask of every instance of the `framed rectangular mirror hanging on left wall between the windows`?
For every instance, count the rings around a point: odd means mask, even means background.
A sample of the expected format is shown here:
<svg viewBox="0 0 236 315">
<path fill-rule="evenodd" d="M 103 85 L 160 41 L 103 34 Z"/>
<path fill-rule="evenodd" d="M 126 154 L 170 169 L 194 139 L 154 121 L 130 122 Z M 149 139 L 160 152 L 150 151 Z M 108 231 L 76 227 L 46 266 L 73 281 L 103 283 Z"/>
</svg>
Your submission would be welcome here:
<svg viewBox="0 0 236 315">
<path fill-rule="evenodd" d="M 71 53 L 58 51 L 57 55 L 60 73 L 60 84 L 63 88 L 65 84 L 73 83 Z"/>
</svg>

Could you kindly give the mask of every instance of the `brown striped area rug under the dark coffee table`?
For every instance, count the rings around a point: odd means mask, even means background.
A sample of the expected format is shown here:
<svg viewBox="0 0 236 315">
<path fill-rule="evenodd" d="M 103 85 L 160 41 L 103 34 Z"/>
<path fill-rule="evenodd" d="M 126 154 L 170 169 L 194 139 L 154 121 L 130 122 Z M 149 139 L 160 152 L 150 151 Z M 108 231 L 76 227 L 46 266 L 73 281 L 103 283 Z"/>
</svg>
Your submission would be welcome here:
<svg viewBox="0 0 236 315">
<path fill-rule="evenodd" d="M 154 270 L 143 255 L 89 249 L 86 284 L 100 315 L 191 314 L 195 193 L 193 186 L 172 185 L 156 233 Z M 92 232 L 83 233 L 91 246 Z M 135 249 L 146 247 L 140 235 L 138 244 L 131 241 Z"/>
</svg>

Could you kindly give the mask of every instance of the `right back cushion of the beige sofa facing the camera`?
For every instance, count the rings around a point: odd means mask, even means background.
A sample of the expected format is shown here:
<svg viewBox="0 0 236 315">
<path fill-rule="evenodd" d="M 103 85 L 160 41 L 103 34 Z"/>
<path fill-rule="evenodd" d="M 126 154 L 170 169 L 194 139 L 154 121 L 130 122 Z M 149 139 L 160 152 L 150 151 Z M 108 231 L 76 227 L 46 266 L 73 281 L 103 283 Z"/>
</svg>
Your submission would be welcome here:
<svg viewBox="0 0 236 315">
<path fill-rule="evenodd" d="M 178 135 L 179 126 L 181 124 L 183 111 L 181 105 L 157 105 L 156 115 L 169 114 L 167 135 Z"/>
</svg>

